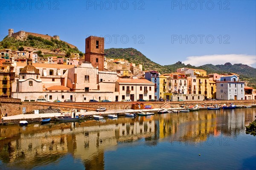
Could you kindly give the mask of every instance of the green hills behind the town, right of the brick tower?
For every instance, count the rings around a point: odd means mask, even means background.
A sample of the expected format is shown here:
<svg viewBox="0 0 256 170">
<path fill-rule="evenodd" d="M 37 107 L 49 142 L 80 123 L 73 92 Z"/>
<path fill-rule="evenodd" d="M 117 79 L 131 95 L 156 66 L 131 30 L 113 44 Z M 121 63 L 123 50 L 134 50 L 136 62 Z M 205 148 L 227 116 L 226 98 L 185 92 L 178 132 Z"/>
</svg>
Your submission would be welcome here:
<svg viewBox="0 0 256 170">
<path fill-rule="evenodd" d="M 171 73 L 175 72 L 177 68 L 197 68 L 197 69 L 203 69 L 207 71 L 207 74 L 212 73 L 236 73 L 240 75 L 240 79 L 242 81 L 248 81 L 249 86 L 252 86 L 256 88 L 256 68 L 250 67 L 248 65 L 243 64 L 234 64 L 231 63 L 225 63 L 224 65 L 212 65 L 212 64 L 206 64 L 201 65 L 199 67 L 193 66 L 193 65 L 185 65 L 181 62 L 176 62 L 172 65 L 159 65 L 156 62 L 151 61 L 147 57 L 145 57 L 140 51 L 137 51 L 134 48 L 109 48 L 105 49 L 105 56 L 107 58 L 113 58 L 113 59 L 125 59 L 129 62 L 135 63 L 135 64 L 141 64 L 143 65 L 144 70 L 156 70 L 159 71 L 160 74 L 165 73 Z"/>
</svg>

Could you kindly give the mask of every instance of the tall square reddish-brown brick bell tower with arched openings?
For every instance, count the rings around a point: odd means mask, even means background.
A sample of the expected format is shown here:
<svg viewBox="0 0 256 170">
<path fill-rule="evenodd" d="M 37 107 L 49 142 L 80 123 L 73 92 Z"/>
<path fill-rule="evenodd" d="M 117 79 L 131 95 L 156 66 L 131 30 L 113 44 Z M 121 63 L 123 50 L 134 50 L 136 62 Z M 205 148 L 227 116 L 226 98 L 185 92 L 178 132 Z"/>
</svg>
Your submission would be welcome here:
<svg viewBox="0 0 256 170">
<path fill-rule="evenodd" d="M 104 38 L 90 36 L 85 39 L 84 60 L 98 67 L 99 71 L 104 70 Z"/>
</svg>

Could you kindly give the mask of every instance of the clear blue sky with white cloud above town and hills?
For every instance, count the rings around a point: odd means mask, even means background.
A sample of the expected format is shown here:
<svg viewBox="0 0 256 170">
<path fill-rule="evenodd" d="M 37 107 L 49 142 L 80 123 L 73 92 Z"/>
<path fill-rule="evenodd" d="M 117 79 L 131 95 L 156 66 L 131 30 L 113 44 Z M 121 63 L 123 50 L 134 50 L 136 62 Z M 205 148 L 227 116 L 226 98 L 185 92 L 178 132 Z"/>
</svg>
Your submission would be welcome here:
<svg viewBox="0 0 256 170">
<path fill-rule="evenodd" d="M 255 0 L 1 0 L 1 40 L 8 28 L 58 34 L 82 52 L 86 37 L 105 37 L 105 48 L 136 48 L 161 65 L 256 68 Z"/>
</svg>

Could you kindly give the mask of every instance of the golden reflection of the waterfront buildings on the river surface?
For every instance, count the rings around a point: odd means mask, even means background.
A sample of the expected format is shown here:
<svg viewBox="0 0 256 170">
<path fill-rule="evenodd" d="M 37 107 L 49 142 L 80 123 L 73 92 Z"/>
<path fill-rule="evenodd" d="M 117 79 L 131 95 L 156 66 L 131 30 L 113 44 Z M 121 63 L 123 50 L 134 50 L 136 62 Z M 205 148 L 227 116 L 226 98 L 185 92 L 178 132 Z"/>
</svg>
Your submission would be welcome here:
<svg viewBox="0 0 256 170">
<path fill-rule="evenodd" d="M 136 119 L 82 123 L 1 126 L 0 160 L 31 169 L 70 153 L 85 169 L 104 169 L 104 153 L 127 145 L 156 145 L 159 140 L 206 140 L 209 134 L 236 136 L 252 122 L 256 109 L 163 114 Z M 10 136 L 13 136 L 10 138 Z"/>
</svg>

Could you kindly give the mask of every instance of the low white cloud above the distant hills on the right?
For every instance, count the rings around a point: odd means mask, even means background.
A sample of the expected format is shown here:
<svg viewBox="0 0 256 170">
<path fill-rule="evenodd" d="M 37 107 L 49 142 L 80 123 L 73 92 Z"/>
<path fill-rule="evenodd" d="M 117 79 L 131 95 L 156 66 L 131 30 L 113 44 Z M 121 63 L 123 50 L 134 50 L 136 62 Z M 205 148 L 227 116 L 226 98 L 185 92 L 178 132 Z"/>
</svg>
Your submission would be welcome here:
<svg viewBox="0 0 256 170">
<path fill-rule="evenodd" d="M 256 56 L 247 54 L 215 54 L 215 55 L 205 55 L 205 56 L 190 56 L 186 57 L 183 61 L 184 64 L 191 64 L 195 66 L 201 66 L 205 64 L 225 64 L 230 62 L 231 64 L 246 64 L 251 67 L 256 67 Z"/>
</svg>

